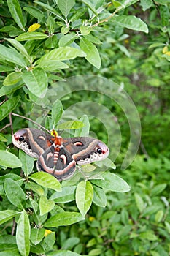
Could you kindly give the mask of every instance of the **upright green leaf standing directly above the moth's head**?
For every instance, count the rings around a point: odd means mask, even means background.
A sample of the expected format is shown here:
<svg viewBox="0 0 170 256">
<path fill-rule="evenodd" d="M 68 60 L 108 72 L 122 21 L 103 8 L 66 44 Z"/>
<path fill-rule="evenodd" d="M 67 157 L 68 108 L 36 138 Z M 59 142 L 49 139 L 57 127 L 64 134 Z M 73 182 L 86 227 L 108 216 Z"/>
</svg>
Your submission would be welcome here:
<svg viewBox="0 0 170 256">
<path fill-rule="evenodd" d="M 52 116 L 53 127 L 56 127 L 62 115 L 63 115 L 63 105 L 61 101 L 57 99 L 55 100 L 52 106 L 51 116 Z"/>
</svg>

